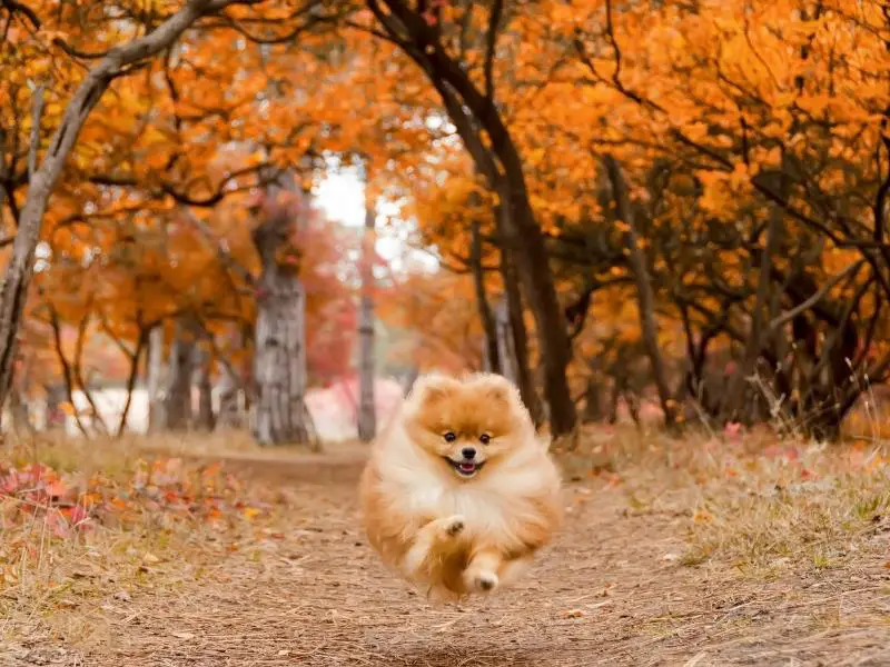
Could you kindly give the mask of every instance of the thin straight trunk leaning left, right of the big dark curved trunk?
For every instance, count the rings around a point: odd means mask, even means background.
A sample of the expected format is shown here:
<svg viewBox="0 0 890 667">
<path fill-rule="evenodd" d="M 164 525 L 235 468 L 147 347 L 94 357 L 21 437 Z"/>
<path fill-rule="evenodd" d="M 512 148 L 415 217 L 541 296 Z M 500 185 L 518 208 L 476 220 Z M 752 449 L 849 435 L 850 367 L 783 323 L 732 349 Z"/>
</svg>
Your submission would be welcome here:
<svg viewBox="0 0 890 667">
<path fill-rule="evenodd" d="M 664 360 L 659 348 L 659 327 L 655 321 L 655 296 L 652 291 L 652 281 L 649 277 L 645 255 L 640 248 L 637 232 L 636 213 L 631 205 L 627 195 L 627 183 L 621 167 L 612 156 L 606 156 L 605 162 L 609 179 L 612 181 L 612 195 L 615 198 L 615 206 L 619 218 L 627 226 L 624 235 L 625 245 L 630 253 L 629 259 L 633 271 L 634 282 L 636 283 L 637 309 L 640 312 L 640 330 L 643 334 L 643 344 L 646 347 L 649 362 L 652 367 L 652 376 L 659 391 L 659 400 L 664 411 L 664 424 L 669 429 L 676 426 L 676 409 L 671 387 L 668 384 L 668 374 Z"/>
</svg>

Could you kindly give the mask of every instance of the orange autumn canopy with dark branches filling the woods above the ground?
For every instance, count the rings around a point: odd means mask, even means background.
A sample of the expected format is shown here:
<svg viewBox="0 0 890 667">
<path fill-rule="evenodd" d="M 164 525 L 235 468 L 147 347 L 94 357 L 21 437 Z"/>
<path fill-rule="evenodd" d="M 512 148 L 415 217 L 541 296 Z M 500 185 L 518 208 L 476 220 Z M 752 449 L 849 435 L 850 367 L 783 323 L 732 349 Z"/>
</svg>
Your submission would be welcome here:
<svg viewBox="0 0 890 667">
<path fill-rule="evenodd" d="M 188 318 L 249 394 L 268 261 L 310 384 L 372 261 L 392 368 L 508 372 L 556 434 L 611 392 L 834 438 L 890 374 L 880 2 L 19 0 L 0 33 L 0 334 L 38 385 L 101 337 L 132 387 Z M 333 157 L 435 271 L 313 208 Z"/>
</svg>

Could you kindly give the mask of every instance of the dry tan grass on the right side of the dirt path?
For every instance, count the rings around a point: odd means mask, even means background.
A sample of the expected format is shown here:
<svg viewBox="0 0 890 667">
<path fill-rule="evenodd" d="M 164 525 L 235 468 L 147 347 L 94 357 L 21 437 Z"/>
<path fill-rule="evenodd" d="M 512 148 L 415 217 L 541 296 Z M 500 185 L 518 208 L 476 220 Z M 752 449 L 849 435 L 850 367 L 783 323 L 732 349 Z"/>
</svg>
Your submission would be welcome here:
<svg viewBox="0 0 890 667">
<path fill-rule="evenodd" d="M 890 526 L 882 444 L 805 444 L 767 430 L 675 440 L 621 429 L 582 442 L 565 457 L 575 479 L 620 482 L 631 512 L 688 517 L 686 565 L 720 559 L 754 576 L 790 560 L 828 568 Z"/>
</svg>

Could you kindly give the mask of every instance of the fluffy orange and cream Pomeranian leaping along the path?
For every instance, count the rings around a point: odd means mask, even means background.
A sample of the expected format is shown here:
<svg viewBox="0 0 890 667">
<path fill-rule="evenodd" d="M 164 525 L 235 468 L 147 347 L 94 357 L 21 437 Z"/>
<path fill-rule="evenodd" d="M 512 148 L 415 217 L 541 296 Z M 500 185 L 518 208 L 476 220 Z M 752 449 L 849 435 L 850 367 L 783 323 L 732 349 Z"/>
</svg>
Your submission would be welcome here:
<svg viewBox="0 0 890 667">
<path fill-rule="evenodd" d="M 368 540 L 432 599 L 512 584 L 562 522 L 547 449 L 502 376 L 419 378 L 362 476 Z"/>
</svg>

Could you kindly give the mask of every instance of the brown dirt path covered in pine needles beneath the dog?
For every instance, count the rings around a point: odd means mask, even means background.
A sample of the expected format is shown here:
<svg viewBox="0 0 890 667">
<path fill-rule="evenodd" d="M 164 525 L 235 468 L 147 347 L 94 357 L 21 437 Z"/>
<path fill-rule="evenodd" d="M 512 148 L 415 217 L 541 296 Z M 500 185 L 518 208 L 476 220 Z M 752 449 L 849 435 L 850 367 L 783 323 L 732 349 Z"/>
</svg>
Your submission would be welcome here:
<svg viewBox="0 0 890 667">
<path fill-rule="evenodd" d="M 80 664 L 890 665 L 883 559 L 768 583 L 725 564 L 684 567 L 681 517 L 633 516 L 620 489 L 570 485 L 566 530 L 518 588 L 433 607 L 358 530 L 358 456 L 228 465 L 293 495 L 288 534 L 176 595 L 131 600 Z"/>
</svg>

